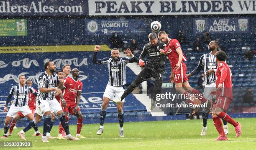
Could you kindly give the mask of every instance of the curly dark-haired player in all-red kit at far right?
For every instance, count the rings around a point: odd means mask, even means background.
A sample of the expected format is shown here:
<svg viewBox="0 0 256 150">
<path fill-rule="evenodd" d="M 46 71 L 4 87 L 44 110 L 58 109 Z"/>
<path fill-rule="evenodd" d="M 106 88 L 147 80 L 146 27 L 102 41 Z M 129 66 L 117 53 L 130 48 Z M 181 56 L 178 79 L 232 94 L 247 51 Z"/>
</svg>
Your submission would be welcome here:
<svg viewBox="0 0 256 150">
<path fill-rule="evenodd" d="M 225 63 L 227 55 L 224 51 L 218 51 L 215 53 L 217 61 L 216 76 L 216 100 L 212 107 L 212 120 L 214 126 L 219 132 L 220 136 L 215 140 L 228 140 L 225 135 L 222 122 L 220 119 L 225 120 L 235 127 L 236 137 L 240 137 L 242 133 L 241 124 L 232 119 L 227 113 L 227 109 L 233 99 L 232 89 L 232 73 Z"/>
</svg>

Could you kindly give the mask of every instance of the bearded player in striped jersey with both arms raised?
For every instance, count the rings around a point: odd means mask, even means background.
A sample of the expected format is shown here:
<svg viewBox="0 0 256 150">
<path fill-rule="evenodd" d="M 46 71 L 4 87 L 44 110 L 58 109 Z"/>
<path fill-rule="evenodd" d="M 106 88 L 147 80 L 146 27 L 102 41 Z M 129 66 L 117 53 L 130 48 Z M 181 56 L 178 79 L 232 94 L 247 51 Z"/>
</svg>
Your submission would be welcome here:
<svg viewBox="0 0 256 150">
<path fill-rule="evenodd" d="M 103 133 L 103 125 L 106 117 L 108 103 L 114 96 L 118 99 L 122 96 L 124 92 L 124 86 L 126 84 L 126 64 L 137 62 L 138 58 L 134 56 L 131 50 L 128 48 L 125 50 L 125 55 L 128 57 L 119 57 L 119 50 L 113 48 L 111 50 L 111 58 L 97 59 L 97 53 L 100 51 L 100 46 L 95 46 L 94 55 L 92 59 L 93 64 L 107 64 L 108 65 L 108 84 L 106 86 L 105 92 L 103 94 L 102 107 L 100 109 L 100 128 L 97 131 L 97 135 Z M 119 136 L 123 135 L 123 102 L 117 103 L 118 109 L 118 120 L 119 120 Z"/>
</svg>

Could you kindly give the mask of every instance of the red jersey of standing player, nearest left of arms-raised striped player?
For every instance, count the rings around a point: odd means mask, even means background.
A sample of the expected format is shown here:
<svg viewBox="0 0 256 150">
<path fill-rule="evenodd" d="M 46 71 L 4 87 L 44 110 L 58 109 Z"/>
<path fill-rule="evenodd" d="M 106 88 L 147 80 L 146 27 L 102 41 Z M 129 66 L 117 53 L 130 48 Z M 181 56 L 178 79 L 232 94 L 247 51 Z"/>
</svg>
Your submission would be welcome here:
<svg viewBox="0 0 256 150">
<path fill-rule="evenodd" d="M 81 81 L 75 81 L 72 77 L 67 78 L 64 81 L 65 87 L 63 97 L 67 103 L 75 103 L 77 98 L 77 92 L 82 92 L 83 83 Z"/>
</svg>

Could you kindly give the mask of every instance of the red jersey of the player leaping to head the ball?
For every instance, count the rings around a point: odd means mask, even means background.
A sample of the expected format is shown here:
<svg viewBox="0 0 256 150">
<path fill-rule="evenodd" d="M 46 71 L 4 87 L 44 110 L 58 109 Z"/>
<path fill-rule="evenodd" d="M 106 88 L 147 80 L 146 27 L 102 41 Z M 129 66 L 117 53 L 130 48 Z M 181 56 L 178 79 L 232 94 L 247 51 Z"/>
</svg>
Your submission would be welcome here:
<svg viewBox="0 0 256 150">
<path fill-rule="evenodd" d="M 176 39 L 170 39 L 170 41 L 166 44 L 164 51 L 166 53 L 166 56 L 168 56 L 170 64 L 172 66 L 172 69 L 178 64 L 179 62 L 179 54 L 177 53 L 177 50 L 181 48 L 179 41 Z M 187 61 L 187 58 L 183 54 L 182 61 Z"/>
</svg>

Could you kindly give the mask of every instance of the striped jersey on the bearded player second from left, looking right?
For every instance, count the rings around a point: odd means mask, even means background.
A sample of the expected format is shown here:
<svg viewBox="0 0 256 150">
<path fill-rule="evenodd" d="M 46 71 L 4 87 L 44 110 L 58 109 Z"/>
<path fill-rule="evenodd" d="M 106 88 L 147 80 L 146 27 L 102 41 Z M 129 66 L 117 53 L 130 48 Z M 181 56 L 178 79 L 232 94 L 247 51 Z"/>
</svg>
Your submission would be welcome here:
<svg viewBox="0 0 256 150">
<path fill-rule="evenodd" d="M 53 73 L 52 75 L 46 74 L 46 71 L 44 71 L 40 76 L 38 76 L 38 94 L 36 99 L 37 100 L 53 100 L 55 91 L 51 91 L 48 93 L 41 93 L 40 88 L 57 88 L 57 85 L 59 84 L 59 77 L 57 74 Z"/>
</svg>

